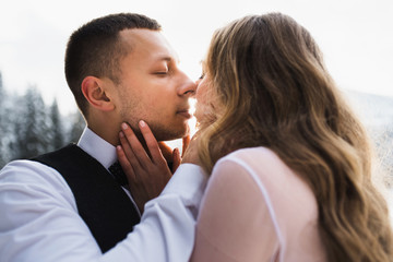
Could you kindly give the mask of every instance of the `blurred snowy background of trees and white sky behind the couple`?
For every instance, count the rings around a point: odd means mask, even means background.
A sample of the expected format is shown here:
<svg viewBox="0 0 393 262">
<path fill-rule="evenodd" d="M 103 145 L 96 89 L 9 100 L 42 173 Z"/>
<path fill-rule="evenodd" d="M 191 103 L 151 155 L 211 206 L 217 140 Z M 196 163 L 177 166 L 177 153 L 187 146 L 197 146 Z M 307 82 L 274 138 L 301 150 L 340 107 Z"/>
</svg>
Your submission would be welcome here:
<svg viewBox="0 0 393 262">
<path fill-rule="evenodd" d="M 109 13 L 156 19 L 196 80 L 215 28 L 247 14 L 282 12 L 308 28 L 327 69 L 370 132 L 376 179 L 393 192 L 393 1 L 14 0 L 0 9 L 0 167 L 76 142 L 84 128 L 63 74 L 68 37 Z M 193 121 L 194 122 L 194 121 Z M 179 146 L 179 141 L 170 142 Z M 393 193 L 388 194 L 393 195 Z M 388 196 L 390 198 L 390 196 Z M 393 198 L 392 198 L 393 209 Z"/>
</svg>

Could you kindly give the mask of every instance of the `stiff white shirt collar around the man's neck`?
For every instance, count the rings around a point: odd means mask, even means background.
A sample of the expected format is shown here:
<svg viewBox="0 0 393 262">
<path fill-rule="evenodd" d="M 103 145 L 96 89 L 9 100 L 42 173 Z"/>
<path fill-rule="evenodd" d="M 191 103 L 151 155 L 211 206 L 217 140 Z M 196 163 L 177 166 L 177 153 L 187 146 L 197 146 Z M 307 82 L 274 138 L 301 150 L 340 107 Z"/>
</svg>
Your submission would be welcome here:
<svg viewBox="0 0 393 262">
<path fill-rule="evenodd" d="M 87 127 L 83 130 L 78 146 L 96 158 L 106 169 L 117 160 L 116 147 Z"/>
</svg>

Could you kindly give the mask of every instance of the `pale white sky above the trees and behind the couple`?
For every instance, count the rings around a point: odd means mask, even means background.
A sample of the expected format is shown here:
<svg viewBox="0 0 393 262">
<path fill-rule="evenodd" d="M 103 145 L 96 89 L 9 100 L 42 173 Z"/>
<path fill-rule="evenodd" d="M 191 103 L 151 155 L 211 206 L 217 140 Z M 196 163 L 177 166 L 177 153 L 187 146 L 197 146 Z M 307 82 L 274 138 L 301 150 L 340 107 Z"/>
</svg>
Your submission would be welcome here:
<svg viewBox="0 0 393 262">
<path fill-rule="evenodd" d="M 36 85 L 62 112 L 75 110 L 63 73 L 68 37 L 109 13 L 156 19 L 192 79 L 215 28 L 247 14 L 282 12 L 309 29 L 338 86 L 393 97 L 392 0 L 2 0 L 0 71 L 9 91 Z"/>
</svg>

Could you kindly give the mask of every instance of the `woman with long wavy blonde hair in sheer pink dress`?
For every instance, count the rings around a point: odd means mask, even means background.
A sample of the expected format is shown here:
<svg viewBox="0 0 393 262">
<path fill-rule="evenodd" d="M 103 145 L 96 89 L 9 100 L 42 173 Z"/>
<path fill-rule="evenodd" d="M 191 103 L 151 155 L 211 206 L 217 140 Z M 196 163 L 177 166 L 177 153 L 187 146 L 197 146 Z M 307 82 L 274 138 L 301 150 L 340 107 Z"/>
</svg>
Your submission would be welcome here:
<svg viewBox="0 0 393 262">
<path fill-rule="evenodd" d="M 393 261 L 367 135 L 310 34 L 246 16 L 216 31 L 204 71 L 182 160 L 211 174 L 191 261 Z"/>
</svg>

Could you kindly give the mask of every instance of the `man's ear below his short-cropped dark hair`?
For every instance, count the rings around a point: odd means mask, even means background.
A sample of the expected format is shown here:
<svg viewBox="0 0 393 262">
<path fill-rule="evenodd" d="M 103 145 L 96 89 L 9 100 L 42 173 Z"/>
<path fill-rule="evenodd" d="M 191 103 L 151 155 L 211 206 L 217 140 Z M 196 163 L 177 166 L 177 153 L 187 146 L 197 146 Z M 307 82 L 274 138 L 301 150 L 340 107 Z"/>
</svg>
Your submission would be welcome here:
<svg viewBox="0 0 393 262">
<path fill-rule="evenodd" d="M 108 94 L 105 92 L 104 82 L 95 76 L 86 76 L 82 81 L 82 93 L 87 99 L 91 106 L 103 110 L 110 111 L 114 110 L 115 105 Z"/>
</svg>

